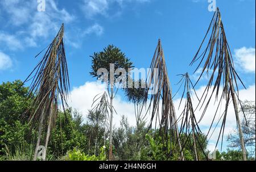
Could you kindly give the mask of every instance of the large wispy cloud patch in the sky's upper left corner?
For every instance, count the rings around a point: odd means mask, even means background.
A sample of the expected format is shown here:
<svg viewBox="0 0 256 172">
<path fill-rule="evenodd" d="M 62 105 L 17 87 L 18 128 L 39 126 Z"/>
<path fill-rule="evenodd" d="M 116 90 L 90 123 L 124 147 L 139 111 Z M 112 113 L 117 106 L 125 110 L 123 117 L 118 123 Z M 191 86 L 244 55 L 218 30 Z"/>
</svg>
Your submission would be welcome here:
<svg viewBox="0 0 256 172">
<path fill-rule="evenodd" d="M 3 36 L 0 36 L 0 43 L 7 43 L 7 48 L 11 50 L 35 47 L 38 39 L 55 36 L 62 23 L 69 23 L 75 19 L 75 16 L 65 9 L 58 9 L 53 0 L 46 1 L 45 12 L 37 11 L 38 3 L 32 0 L 3 0 L 0 5 L 7 16 L 6 26 L 18 28 L 12 35 L 0 30 Z"/>
</svg>

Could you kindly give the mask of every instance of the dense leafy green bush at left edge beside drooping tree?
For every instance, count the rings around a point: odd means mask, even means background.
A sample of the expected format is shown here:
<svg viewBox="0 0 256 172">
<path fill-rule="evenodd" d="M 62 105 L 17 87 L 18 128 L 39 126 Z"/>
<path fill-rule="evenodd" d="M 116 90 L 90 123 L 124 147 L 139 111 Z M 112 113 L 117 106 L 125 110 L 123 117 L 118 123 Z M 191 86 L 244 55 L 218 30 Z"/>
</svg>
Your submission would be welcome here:
<svg viewBox="0 0 256 172">
<path fill-rule="evenodd" d="M 14 153 L 19 145 L 27 145 L 28 124 L 22 114 L 31 105 L 28 88 L 21 81 L 0 85 L 0 156 L 6 147 Z"/>
</svg>

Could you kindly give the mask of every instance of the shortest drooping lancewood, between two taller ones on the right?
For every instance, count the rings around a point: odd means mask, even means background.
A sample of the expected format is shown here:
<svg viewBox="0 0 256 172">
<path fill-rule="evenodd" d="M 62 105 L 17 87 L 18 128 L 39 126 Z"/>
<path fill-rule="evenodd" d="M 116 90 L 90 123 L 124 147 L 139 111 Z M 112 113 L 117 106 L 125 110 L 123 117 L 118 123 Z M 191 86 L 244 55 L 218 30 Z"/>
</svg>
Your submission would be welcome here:
<svg viewBox="0 0 256 172">
<path fill-rule="evenodd" d="M 181 79 L 179 81 L 180 88 L 183 86 L 183 94 L 181 96 L 179 108 L 181 106 L 181 103 L 183 99 L 185 99 L 184 108 L 181 112 L 181 115 L 179 117 L 180 123 L 180 136 L 184 135 L 184 137 L 181 139 L 182 147 L 188 147 L 189 145 L 191 147 L 191 150 L 195 154 L 195 160 L 200 161 L 200 156 L 198 149 L 201 149 L 201 152 L 204 153 L 204 156 L 206 159 L 208 159 L 207 154 L 205 154 L 204 146 L 201 145 L 200 140 L 204 140 L 203 133 L 200 130 L 200 127 L 197 123 L 195 111 L 193 109 L 192 105 L 192 92 L 195 94 L 195 97 L 197 97 L 196 90 L 193 87 L 193 83 L 191 82 L 188 73 L 181 74 Z M 192 135 L 192 143 L 191 143 L 191 135 Z M 198 145 L 197 145 L 198 144 Z"/>
</svg>

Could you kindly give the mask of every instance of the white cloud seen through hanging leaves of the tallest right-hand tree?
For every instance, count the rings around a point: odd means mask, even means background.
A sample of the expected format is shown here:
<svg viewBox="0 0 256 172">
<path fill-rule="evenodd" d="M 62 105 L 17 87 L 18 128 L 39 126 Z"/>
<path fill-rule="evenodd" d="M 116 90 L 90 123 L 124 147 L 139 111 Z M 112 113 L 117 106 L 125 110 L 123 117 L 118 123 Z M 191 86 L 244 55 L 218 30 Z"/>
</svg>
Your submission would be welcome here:
<svg viewBox="0 0 256 172">
<path fill-rule="evenodd" d="M 196 90 L 196 93 L 197 93 L 199 98 L 204 93 L 204 90 L 205 90 L 205 86 L 202 86 L 202 87 L 200 87 L 200 89 Z M 211 93 L 211 90 L 209 90 L 209 92 Z M 247 90 L 245 90 L 245 89 L 240 90 L 239 91 L 239 96 L 240 96 L 240 99 L 242 101 L 244 101 L 244 100 L 255 101 L 255 85 L 249 86 L 247 88 Z M 181 106 L 180 106 L 179 110 L 177 110 L 177 108 L 176 108 L 176 111 L 177 111 L 176 114 L 177 114 L 178 117 L 179 117 L 179 115 L 181 114 L 181 112 L 183 110 L 184 102 L 185 102 L 185 100 L 183 100 L 183 102 L 181 103 Z M 194 107 L 194 110 L 195 110 L 197 104 L 199 103 L 198 100 L 196 99 L 195 95 L 193 95 L 192 102 L 193 102 L 193 107 Z M 179 107 L 179 103 L 180 103 L 180 99 L 176 99 L 174 101 L 175 107 Z M 218 106 L 217 102 L 214 103 L 214 100 L 212 100 L 209 104 L 208 110 L 205 112 L 205 116 L 204 116 L 203 120 L 201 120 L 200 123 L 199 123 L 199 126 L 200 126 L 201 130 L 204 133 L 207 133 L 208 130 L 209 130 L 209 127 L 210 127 L 210 124 L 212 123 L 212 120 L 213 120 L 214 114 L 216 112 L 217 106 Z M 210 135 L 212 134 L 213 129 L 217 125 L 217 121 L 220 119 L 223 111 L 225 110 L 225 103 L 222 102 L 220 107 L 221 108 L 217 112 L 215 122 L 213 123 L 213 127 L 210 131 Z M 199 121 L 203 110 L 204 110 L 204 106 L 203 106 L 203 108 L 201 108 L 201 110 L 199 110 L 199 108 L 198 108 L 195 111 L 197 121 Z M 241 114 L 241 119 L 242 119 L 242 114 Z M 230 103 L 230 106 L 228 108 L 228 114 L 227 114 L 227 117 L 226 117 L 226 125 L 225 125 L 225 131 L 224 131 L 224 142 L 226 141 L 226 136 L 228 136 L 228 133 L 230 133 L 231 131 L 236 129 L 236 127 L 237 127 L 237 125 L 236 125 L 236 116 L 234 114 L 234 108 L 233 108 L 233 104 Z M 210 137 L 210 139 L 208 138 L 209 139 L 209 148 L 208 148 L 209 150 L 212 150 L 213 145 L 214 145 L 214 148 L 215 148 L 215 145 L 216 145 L 217 139 L 218 139 L 218 135 L 220 133 L 220 129 L 221 129 L 221 124 L 218 124 L 215 131 L 213 132 L 212 137 Z M 219 141 L 218 148 L 220 148 L 219 147 L 220 142 L 221 142 L 221 140 Z"/>
</svg>

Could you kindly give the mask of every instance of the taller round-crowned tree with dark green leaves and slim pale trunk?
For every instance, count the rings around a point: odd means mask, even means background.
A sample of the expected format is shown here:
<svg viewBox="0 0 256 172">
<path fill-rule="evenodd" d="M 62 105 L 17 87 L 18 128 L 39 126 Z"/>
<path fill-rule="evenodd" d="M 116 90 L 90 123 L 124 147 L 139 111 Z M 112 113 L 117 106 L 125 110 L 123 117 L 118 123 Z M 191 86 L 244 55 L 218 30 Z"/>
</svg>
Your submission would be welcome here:
<svg viewBox="0 0 256 172">
<path fill-rule="evenodd" d="M 90 75 L 106 83 L 110 97 L 109 160 L 113 160 L 113 99 L 117 94 L 119 83 L 121 83 L 121 81 L 124 83 L 129 69 L 133 68 L 133 63 L 125 56 L 125 53 L 123 53 L 121 49 L 114 45 L 109 45 L 104 48 L 102 52 L 94 53 L 91 57 L 92 72 L 90 72 Z M 125 75 L 122 69 L 127 72 Z"/>
</svg>

